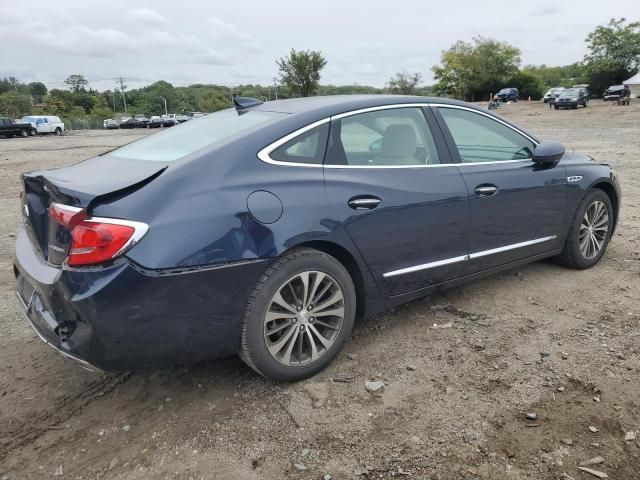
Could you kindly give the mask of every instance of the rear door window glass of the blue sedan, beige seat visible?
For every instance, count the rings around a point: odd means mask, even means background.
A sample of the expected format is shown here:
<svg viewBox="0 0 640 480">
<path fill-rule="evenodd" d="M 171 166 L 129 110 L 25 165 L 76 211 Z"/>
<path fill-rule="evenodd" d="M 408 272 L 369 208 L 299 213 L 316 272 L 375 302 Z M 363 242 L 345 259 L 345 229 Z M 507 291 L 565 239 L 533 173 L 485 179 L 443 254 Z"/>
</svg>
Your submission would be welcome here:
<svg viewBox="0 0 640 480">
<path fill-rule="evenodd" d="M 419 166 L 438 163 L 422 109 L 393 108 L 350 115 L 332 124 L 327 164 Z"/>
</svg>

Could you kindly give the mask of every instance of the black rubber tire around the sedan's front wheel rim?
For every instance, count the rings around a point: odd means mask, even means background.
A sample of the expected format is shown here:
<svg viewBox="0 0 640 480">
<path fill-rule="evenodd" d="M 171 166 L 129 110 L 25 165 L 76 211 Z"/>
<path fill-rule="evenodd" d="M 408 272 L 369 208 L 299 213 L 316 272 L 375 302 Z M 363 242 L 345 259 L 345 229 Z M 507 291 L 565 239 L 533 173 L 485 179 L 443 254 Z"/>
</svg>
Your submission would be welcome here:
<svg viewBox="0 0 640 480">
<path fill-rule="evenodd" d="M 598 254 L 593 258 L 585 258 L 582 251 L 580 250 L 580 226 L 587 209 L 596 201 L 604 203 L 607 208 L 607 215 L 609 218 L 607 234 L 604 238 L 602 248 L 600 249 Z M 576 210 L 573 219 L 571 220 L 571 224 L 569 225 L 569 231 L 567 234 L 567 239 L 564 243 L 564 249 L 562 250 L 562 253 L 560 255 L 554 257 L 556 263 L 564 265 L 565 267 L 575 268 L 577 270 L 584 270 L 586 268 L 593 267 L 600 261 L 605 251 L 607 250 L 607 246 L 609 245 L 609 241 L 611 240 L 613 221 L 614 212 L 609 196 L 604 191 L 598 188 L 594 188 L 580 202 L 580 205 L 578 206 L 578 209 Z"/>
</svg>

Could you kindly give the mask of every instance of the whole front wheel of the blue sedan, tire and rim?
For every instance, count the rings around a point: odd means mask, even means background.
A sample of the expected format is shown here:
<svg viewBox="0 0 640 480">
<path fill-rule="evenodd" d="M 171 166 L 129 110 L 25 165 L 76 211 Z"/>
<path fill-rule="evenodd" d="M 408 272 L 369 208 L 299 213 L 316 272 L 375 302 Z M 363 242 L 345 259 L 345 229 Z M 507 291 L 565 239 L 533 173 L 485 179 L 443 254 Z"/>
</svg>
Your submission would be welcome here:
<svg viewBox="0 0 640 480">
<path fill-rule="evenodd" d="M 594 189 L 576 211 L 558 263 L 576 269 L 594 266 L 604 255 L 613 230 L 613 208 L 609 196 Z"/>
</svg>

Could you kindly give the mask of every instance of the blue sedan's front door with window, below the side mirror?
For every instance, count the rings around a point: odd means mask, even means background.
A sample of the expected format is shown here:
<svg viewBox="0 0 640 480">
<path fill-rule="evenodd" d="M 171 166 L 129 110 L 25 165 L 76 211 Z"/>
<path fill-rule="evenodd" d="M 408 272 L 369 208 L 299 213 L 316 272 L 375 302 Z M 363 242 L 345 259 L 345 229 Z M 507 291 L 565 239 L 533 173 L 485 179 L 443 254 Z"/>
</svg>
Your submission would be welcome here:
<svg viewBox="0 0 640 480">
<path fill-rule="evenodd" d="M 561 248 L 568 193 L 562 164 L 534 163 L 537 142 L 488 113 L 434 110 L 469 191 L 470 273 Z"/>
</svg>

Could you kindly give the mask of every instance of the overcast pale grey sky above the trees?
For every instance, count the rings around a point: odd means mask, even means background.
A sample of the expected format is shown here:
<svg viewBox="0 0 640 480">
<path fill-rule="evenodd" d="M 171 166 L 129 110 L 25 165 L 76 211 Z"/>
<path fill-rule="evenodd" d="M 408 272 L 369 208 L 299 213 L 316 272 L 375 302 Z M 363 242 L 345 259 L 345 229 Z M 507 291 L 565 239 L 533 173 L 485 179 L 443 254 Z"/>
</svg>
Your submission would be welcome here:
<svg viewBox="0 0 640 480">
<path fill-rule="evenodd" d="M 639 0 L 0 0 L 0 77 L 64 88 L 80 73 L 99 90 L 164 79 L 273 82 L 276 58 L 320 50 L 322 83 L 383 86 L 396 71 L 421 72 L 456 40 L 483 35 L 522 51 L 523 64 L 565 65 L 612 15 L 640 20 Z"/>
</svg>

